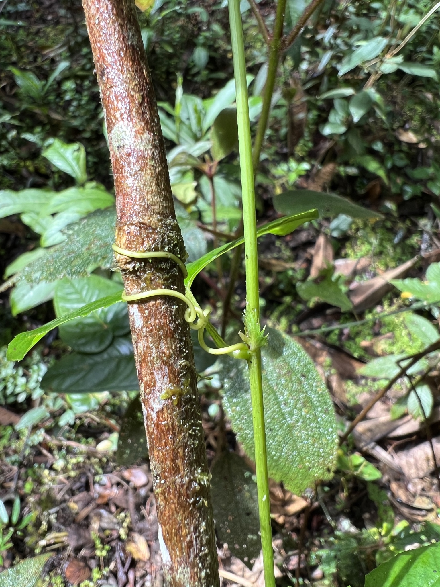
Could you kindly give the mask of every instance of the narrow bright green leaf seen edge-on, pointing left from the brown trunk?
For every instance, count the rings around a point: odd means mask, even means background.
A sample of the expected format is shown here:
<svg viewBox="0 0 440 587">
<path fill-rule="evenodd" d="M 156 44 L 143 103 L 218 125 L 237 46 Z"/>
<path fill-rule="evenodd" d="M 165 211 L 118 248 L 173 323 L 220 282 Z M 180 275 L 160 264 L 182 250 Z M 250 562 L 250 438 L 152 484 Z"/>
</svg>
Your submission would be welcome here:
<svg viewBox="0 0 440 587">
<path fill-rule="evenodd" d="M 30 332 L 22 332 L 17 335 L 8 345 L 7 357 L 10 361 L 21 361 L 26 353 L 32 349 L 39 340 L 43 338 L 50 330 L 57 328 L 74 318 L 80 318 L 82 316 L 88 316 L 91 312 L 99 310 L 101 308 L 108 308 L 116 302 L 119 302 L 123 290 L 116 292 L 112 295 L 105 296 L 104 298 L 97 299 L 96 302 L 87 303 L 85 306 L 77 311 L 70 312 L 65 316 L 60 316 L 47 324 L 31 330 Z"/>
</svg>

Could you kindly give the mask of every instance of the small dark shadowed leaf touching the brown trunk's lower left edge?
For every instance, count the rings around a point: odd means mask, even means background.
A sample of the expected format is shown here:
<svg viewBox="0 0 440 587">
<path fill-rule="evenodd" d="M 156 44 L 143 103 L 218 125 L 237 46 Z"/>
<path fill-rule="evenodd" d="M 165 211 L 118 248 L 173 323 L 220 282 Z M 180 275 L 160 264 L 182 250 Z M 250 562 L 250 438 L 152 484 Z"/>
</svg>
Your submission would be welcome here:
<svg viewBox="0 0 440 587">
<path fill-rule="evenodd" d="M 144 414 L 139 396 L 128 404 L 121 421 L 116 462 L 119 465 L 132 465 L 148 456 L 147 437 L 145 436 Z"/>
</svg>

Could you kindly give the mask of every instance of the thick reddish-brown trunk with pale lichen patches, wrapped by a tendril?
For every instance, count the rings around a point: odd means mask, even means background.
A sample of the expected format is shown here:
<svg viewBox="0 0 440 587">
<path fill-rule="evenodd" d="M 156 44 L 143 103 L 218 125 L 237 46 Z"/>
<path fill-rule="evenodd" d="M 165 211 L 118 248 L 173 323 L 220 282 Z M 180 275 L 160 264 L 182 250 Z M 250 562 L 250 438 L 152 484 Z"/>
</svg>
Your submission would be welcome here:
<svg viewBox="0 0 440 587">
<path fill-rule="evenodd" d="M 116 243 L 185 259 L 160 122 L 134 0 L 83 0 L 109 134 Z M 184 292 L 167 259 L 117 255 L 127 294 Z M 209 477 L 185 305 L 170 296 L 128 304 L 144 407 L 165 583 L 219 585 Z"/>
</svg>

